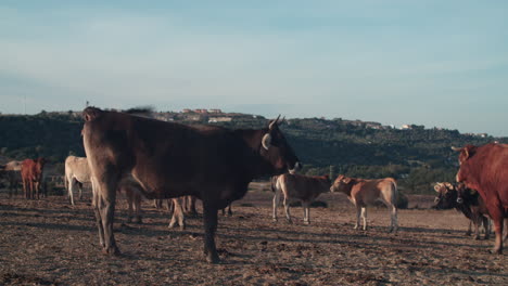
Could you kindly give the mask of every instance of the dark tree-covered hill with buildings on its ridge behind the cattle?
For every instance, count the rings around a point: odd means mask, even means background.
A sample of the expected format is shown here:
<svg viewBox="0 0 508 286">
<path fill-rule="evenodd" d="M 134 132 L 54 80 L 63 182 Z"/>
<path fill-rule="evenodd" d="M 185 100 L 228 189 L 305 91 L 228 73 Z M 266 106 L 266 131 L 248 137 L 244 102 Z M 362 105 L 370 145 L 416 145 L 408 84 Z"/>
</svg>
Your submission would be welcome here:
<svg viewBox="0 0 508 286">
<path fill-rule="evenodd" d="M 259 128 L 267 123 L 263 116 L 200 110 L 154 113 L 153 117 L 228 128 Z M 76 112 L 0 115 L 0 156 L 13 159 L 43 156 L 61 165 L 69 154 L 85 155 L 81 128 L 82 119 Z M 433 182 L 454 180 L 457 154 L 450 146 L 508 142 L 507 138 L 461 134 L 457 130 L 424 129 L 415 125 L 405 128 L 341 118 L 290 119 L 281 126 L 304 164 L 303 172 L 394 177 L 407 193 L 431 193 Z"/>
</svg>

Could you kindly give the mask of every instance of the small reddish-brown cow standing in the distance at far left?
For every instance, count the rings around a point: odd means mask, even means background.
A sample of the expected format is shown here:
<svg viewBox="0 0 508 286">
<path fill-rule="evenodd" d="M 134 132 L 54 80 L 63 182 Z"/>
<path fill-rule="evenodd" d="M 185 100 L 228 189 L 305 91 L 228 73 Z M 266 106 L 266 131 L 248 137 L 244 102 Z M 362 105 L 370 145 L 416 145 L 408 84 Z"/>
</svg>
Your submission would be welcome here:
<svg viewBox="0 0 508 286">
<path fill-rule="evenodd" d="M 22 162 L 21 174 L 23 180 L 23 191 L 25 198 L 39 199 L 40 184 L 42 183 L 42 172 L 45 158 L 25 159 Z"/>
</svg>

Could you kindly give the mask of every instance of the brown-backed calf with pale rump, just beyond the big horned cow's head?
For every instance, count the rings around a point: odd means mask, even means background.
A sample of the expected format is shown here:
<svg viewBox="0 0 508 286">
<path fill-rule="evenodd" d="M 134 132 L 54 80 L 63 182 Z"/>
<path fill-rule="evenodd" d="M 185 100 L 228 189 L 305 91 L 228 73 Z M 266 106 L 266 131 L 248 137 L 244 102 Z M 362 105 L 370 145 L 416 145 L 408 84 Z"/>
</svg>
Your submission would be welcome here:
<svg viewBox="0 0 508 286">
<path fill-rule="evenodd" d="M 277 221 L 277 206 L 280 204 L 281 194 L 284 195 L 283 205 L 285 218 L 292 223 L 290 214 L 290 200 L 302 202 L 304 209 L 304 223 L 310 224 L 310 204 L 321 194 L 330 191 L 330 178 L 328 176 L 303 176 L 284 173 L 277 178 L 274 195 L 274 222 Z"/>
</svg>

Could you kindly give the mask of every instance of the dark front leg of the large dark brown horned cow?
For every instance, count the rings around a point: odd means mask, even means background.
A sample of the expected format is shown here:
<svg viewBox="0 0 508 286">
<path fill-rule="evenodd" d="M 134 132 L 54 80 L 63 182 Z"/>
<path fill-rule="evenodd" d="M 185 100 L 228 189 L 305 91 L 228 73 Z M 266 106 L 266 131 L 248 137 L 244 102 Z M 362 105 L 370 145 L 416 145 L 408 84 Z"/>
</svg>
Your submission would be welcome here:
<svg viewBox="0 0 508 286">
<path fill-rule="evenodd" d="M 215 247 L 215 232 L 217 231 L 217 212 L 216 206 L 211 206 L 203 202 L 203 219 L 204 219 L 204 252 L 206 261 L 209 263 L 218 263 L 220 259 L 217 255 L 217 248 Z"/>
</svg>

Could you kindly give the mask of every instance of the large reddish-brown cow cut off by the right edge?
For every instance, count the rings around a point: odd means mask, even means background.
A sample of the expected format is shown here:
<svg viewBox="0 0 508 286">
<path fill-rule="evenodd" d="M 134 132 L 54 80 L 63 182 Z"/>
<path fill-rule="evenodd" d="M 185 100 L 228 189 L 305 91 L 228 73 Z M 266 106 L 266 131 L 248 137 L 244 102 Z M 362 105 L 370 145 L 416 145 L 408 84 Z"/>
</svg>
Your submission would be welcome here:
<svg viewBox="0 0 508 286">
<path fill-rule="evenodd" d="M 457 182 L 463 182 L 482 196 L 494 221 L 493 251 L 501 253 L 503 221 L 508 218 L 508 144 L 466 145 L 454 150 L 460 151 Z"/>
</svg>

